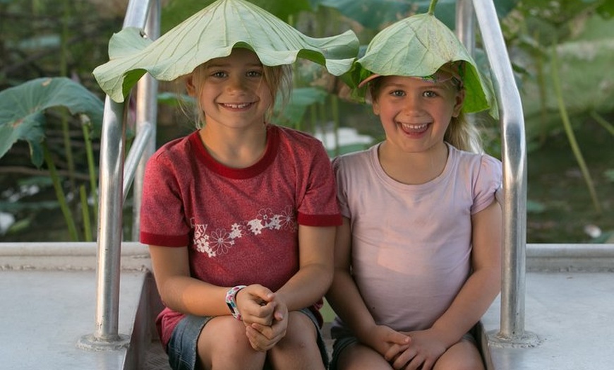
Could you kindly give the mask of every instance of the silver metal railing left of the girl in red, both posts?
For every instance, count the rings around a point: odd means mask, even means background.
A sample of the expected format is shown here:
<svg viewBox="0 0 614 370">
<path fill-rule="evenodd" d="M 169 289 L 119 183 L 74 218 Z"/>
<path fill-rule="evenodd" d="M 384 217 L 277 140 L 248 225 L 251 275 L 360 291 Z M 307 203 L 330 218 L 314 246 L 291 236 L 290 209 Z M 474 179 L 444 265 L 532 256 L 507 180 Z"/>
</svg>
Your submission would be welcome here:
<svg viewBox="0 0 614 370">
<path fill-rule="evenodd" d="M 123 27 L 141 28 L 147 37 L 155 40 L 160 29 L 159 0 L 131 0 Z M 78 343 L 80 347 L 88 349 L 114 350 L 125 347 L 129 340 L 129 335 L 118 333 L 121 216 L 133 179 L 136 184 L 134 208 L 138 215 L 145 161 L 155 149 L 155 80 L 149 76 L 144 77 L 136 89 L 136 137 L 124 166 L 126 110 L 125 103 L 116 103 L 107 96 L 100 141 L 96 326 L 92 335 L 85 335 Z"/>
</svg>

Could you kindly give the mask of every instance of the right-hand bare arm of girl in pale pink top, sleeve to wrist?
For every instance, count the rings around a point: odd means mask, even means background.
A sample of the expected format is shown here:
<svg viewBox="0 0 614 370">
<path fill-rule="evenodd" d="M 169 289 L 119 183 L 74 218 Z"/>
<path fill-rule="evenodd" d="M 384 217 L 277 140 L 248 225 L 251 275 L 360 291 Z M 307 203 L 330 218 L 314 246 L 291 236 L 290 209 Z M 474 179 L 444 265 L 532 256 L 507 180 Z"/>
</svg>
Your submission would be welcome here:
<svg viewBox="0 0 614 370">
<path fill-rule="evenodd" d="M 483 316 L 500 291 L 502 216 L 497 201 L 471 217 L 472 273 L 450 308 L 433 329 L 443 334 L 446 347 L 457 342 Z"/>
</svg>

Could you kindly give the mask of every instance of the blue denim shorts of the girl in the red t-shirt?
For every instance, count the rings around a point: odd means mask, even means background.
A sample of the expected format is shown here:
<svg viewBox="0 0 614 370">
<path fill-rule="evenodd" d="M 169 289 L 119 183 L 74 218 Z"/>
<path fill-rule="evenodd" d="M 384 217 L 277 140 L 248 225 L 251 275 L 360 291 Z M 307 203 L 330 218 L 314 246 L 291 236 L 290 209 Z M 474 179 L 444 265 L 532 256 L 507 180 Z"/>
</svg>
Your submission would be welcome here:
<svg viewBox="0 0 614 370">
<path fill-rule="evenodd" d="M 318 347 L 320 348 L 320 355 L 324 363 L 325 369 L 328 368 L 328 354 L 326 352 L 326 345 L 320 327 L 318 326 L 318 318 L 315 317 L 310 309 L 301 309 L 303 314 L 306 314 L 318 332 Z M 173 329 L 167 352 L 169 354 L 169 364 L 173 370 L 194 370 L 196 368 L 196 359 L 198 352 L 196 351 L 196 344 L 200 331 L 203 330 L 208 321 L 212 319 L 212 316 L 192 316 L 186 315 L 182 318 L 177 326 Z M 263 370 L 271 369 L 270 365 L 265 363 Z"/>
</svg>

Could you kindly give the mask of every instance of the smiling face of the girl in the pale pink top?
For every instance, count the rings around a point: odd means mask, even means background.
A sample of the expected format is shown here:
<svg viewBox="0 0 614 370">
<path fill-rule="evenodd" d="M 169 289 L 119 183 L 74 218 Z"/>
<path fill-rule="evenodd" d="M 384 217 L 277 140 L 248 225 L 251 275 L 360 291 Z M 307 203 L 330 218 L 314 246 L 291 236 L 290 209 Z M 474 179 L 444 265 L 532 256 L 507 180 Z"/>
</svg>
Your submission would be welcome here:
<svg viewBox="0 0 614 370">
<path fill-rule="evenodd" d="M 388 143 L 404 153 L 443 145 L 450 120 L 458 116 L 464 100 L 464 90 L 453 80 L 383 76 L 373 83 L 373 112 L 380 116 Z"/>
</svg>

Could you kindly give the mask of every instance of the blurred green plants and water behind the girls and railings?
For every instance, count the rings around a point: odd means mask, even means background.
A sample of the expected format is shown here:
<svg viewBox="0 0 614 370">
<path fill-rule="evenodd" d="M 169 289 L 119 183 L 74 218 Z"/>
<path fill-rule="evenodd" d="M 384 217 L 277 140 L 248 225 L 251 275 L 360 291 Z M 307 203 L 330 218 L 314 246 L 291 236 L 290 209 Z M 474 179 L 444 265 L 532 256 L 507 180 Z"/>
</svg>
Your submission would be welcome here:
<svg viewBox="0 0 614 370">
<path fill-rule="evenodd" d="M 162 32 L 211 2 L 163 1 Z M 430 3 L 252 2 L 306 35 L 351 29 L 364 45 Z M 104 96 L 92 70 L 108 60 L 107 44 L 126 6 L 126 0 L 0 0 L 0 241 L 95 239 Z M 527 241 L 614 242 L 614 1 L 495 0 L 495 6 L 524 107 Z M 450 28 L 454 14 L 455 1 L 438 2 L 435 15 Z M 488 71 L 479 36 L 477 48 Z M 371 108 L 350 102 L 337 78 L 300 62 L 294 85 L 277 123 L 319 136 L 330 155 L 381 140 Z M 176 86 L 161 83 L 159 90 L 158 145 L 194 129 L 177 109 Z M 500 157 L 498 122 L 476 121 L 487 152 Z"/>
</svg>

